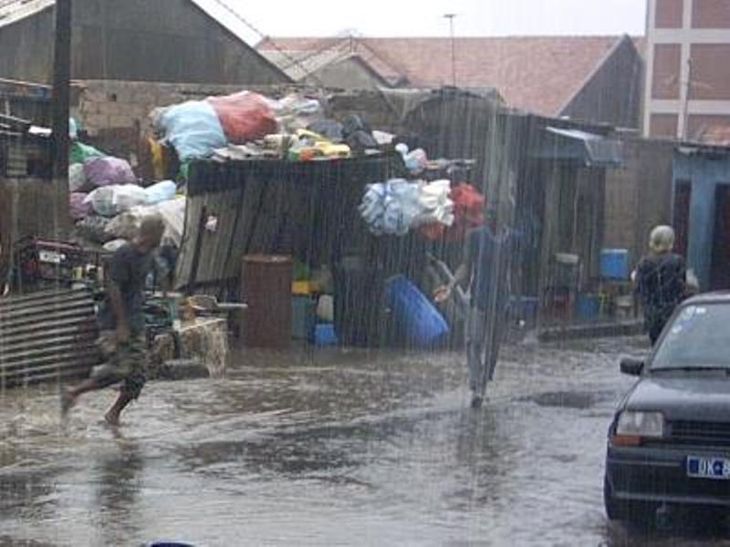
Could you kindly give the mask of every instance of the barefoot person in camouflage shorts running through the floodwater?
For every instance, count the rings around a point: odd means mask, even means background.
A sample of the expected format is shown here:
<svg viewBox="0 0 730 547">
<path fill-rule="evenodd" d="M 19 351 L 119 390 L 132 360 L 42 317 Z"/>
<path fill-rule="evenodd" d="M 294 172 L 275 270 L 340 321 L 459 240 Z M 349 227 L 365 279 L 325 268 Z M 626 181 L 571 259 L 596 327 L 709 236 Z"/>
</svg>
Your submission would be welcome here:
<svg viewBox="0 0 730 547">
<path fill-rule="evenodd" d="M 107 296 L 99 315 L 100 344 L 105 356 L 115 346 L 107 362 L 94 369 L 91 377 L 77 387 L 64 390 L 61 410 L 64 414 L 78 397 L 121 382 L 120 395 L 104 419 L 112 426 L 120 424 L 121 411 L 140 397 L 146 382 L 147 362 L 144 336 L 144 286 L 154 265 L 154 251 L 159 247 L 164 223 L 158 215 L 142 220 L 137 237 L 121 247 L 110 259 L 105 272 Z"/>
</svg>

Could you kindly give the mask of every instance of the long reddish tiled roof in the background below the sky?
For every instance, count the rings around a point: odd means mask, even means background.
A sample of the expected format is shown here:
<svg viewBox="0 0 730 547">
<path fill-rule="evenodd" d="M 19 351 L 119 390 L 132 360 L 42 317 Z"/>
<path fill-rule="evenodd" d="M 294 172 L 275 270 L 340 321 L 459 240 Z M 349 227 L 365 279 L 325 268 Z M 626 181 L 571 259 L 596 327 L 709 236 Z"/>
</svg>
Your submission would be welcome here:
<svg viewBox="0 0 730 547">
<path fill-rule="evenodd" d="M 556 116 L 586 83 L 621 36 L 509 36 L 456 38 L 456 84 L 463 88 L 496 88 L 506 103 L 538 114 Z M 322 51 L 349 41 L 387 79 L 407 78 L 413 87 L 440 87 L 452 82 L 449 38 L 268 38 L 260 51 L 277 47 L 289 52 Z M 641 51 L 641 40 L 634 43 Z M 354 45 L 353 45 L 354 44 Z"/>
</svg>

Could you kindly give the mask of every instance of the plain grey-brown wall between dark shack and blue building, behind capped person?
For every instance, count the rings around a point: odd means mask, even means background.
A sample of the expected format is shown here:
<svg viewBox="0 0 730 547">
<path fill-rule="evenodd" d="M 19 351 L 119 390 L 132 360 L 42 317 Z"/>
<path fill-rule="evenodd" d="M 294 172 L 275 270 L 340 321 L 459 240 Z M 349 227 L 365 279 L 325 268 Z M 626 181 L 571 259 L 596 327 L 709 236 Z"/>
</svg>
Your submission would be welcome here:
<svg viewBox="0 0 730 547">
<path fill-rule="evenodd" d="M 646 252 L 654 226 L 672 221 L 674 144 L 623 139 L 625 165 L 606 175 L 604 246 L 628 249 L 631 264 Z"/>
</svg>

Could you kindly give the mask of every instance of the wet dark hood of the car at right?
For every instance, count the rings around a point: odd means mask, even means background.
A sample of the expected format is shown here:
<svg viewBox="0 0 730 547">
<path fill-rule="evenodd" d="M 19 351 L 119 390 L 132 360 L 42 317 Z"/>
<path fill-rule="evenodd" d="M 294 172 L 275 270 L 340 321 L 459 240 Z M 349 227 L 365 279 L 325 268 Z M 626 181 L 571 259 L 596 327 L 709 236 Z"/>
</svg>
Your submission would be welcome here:
<svg viewBox="0 0 730 547">
<path fill-rule="evenodd" d="M 644 377 L 628 395 L 626 408 L 662 411 L 668 420 L 730 422 L 730 377 Z"/>
</svg>

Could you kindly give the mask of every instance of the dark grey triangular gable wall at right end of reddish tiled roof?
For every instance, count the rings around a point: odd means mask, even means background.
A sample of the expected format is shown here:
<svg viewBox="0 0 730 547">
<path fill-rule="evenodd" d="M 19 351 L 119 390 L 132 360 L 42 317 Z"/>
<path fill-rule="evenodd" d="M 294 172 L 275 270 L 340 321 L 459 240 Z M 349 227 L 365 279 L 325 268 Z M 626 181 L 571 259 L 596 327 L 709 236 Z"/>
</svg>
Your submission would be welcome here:
<svg viewBox="0 0 730 547">
<path fill-rule="evenodd" d="M 639 128 L 642 86 L 643 61 L 626 36 L 558 116 Z"/>
</svg>

